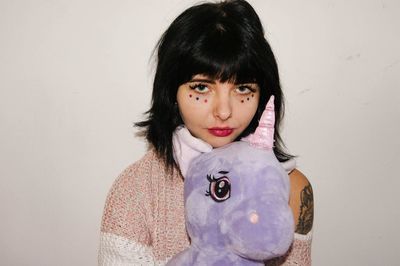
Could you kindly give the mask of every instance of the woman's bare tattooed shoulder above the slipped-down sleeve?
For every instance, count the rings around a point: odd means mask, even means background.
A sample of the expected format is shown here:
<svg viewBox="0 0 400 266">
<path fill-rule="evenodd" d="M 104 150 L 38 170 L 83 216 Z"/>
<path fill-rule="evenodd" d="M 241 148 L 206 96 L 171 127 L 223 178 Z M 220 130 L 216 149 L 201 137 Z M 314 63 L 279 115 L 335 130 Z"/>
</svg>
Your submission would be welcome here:
<svg viewBox="0 0 400 266">
<path fill-rule="evenodd" d="M 311 231 L 314 221 L 314 195 L 310 181 L 297 169 L 290 174 L 289 205 L 293 211 L 295 231 L 307 234 Z"/>
</svg>

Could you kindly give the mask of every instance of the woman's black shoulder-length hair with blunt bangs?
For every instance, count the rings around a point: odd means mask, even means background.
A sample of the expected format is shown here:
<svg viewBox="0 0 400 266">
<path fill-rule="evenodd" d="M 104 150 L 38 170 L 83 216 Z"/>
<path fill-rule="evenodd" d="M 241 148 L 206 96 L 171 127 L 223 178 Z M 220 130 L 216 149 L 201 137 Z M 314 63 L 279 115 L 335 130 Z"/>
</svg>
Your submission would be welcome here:
<svg viewBox="0 0 400 266">
<path fill-rule="evenodd" d="M 186 9 L 158 41 L 157 68 L 147 120 L 135 125 L 169 168 L 175 164 L 172 135 L 183 124 L 176 94 L 196 74 L 221 82 L 255 82 L 260 101 L 255 116 L 238 139 L 254 132 L 271 95 L 275 96 L 275 147 L 279 161 L 293 157 L 284 150 L 280 124 L 284 99 L 278 66 L 253 7 L 244 0 L 202 3 Z"/>
</svg>

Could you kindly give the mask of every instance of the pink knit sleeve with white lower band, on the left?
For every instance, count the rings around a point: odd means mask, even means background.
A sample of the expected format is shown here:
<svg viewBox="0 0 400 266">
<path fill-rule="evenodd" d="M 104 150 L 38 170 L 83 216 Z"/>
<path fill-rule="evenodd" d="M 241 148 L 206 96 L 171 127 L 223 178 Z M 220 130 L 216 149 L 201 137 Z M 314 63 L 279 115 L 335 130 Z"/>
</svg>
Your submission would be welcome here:
<svg viewBox="0 0 400 266">
<path fill-rule="evenodd" d="M 99 265 L 154 265 L 149 219 L 144 208 L 147 196 L 132 165 L 111 187 L 102 218 Z"/>
</svg>

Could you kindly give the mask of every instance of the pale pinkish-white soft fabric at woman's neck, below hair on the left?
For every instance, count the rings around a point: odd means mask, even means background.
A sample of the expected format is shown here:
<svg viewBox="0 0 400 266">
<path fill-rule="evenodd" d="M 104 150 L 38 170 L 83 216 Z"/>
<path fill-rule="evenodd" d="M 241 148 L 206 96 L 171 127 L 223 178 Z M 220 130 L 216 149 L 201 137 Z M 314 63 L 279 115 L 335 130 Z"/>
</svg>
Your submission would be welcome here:
<svg viewBox="0 0 400 266">
<path fill-rule="evenodd" d="M 180 126 L 175 129 L 172 137 L 174 159 L 178 164 L 183 177 L 186 176 L 190 162 L 204 152 L 210 152 L 212 146 L 201 139 L 195 138 L 189 130 Z"/>
</svg>

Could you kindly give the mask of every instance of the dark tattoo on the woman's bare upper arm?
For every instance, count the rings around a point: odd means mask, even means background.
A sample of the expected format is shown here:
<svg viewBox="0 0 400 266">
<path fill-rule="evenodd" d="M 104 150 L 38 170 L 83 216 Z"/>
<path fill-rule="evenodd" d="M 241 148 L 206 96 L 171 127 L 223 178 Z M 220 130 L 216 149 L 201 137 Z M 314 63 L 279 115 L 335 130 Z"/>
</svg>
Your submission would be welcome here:
<svg viewBox="0 0 400 266">
<path fill-rule="evenodd" d="M 310 184 L 301 191 L 300 201 L 300 215 L 296 233 L 305 235 L 311 231 L 314 220 L 314 197 Z"/>
</svg>

